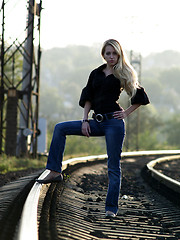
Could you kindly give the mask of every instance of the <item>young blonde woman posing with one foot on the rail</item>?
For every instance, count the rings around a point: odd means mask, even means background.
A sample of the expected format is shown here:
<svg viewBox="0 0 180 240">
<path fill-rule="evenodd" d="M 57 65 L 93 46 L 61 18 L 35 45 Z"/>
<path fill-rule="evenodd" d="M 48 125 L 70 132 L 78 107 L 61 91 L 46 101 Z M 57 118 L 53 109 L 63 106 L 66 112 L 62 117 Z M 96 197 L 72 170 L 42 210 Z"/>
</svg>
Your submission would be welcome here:
<svg viewBox="0 0 180 240">
<path fill-rule="evenodd" d="M 55 126 L 46 168 L 49 175 L 39 183 L 62 181 L 61 167 L 66 135 L 86 137 L 105 136 L 108 155 L 108 192 L 105 203 L 106 216 L 115 217 L 121 186 L 120 159 L 125 135 L 124 119 L 140 105 L 149 103 L 146 92 L 139 86 L 137 74 L 128 63 L 121 45 L 114 39 L 102 47 L 105 64 L 90 73 L 83 88 L 79 105 L 84 108 L 82 121 L 68 121 Z M 124 110 L 117 100 L 125 90 L 131 106 Z M 93 110 L 93 119 L 89 112 Z"/>
</svg>

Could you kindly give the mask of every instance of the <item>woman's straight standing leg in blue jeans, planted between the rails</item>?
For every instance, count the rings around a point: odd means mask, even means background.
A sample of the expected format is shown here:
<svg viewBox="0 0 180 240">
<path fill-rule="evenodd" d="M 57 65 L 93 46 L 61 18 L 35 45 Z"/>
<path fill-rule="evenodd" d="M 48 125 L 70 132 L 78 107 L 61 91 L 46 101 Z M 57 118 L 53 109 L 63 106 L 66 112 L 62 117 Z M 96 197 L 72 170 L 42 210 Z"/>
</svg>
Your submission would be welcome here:
<svg viewBox="0 0 180 240">
<path fill-rule="evenodd" d="M 109 186 L 106 197 L 106 211 L 117 213 L 121 187 L 121 152 L 125 135 L 124 121 L 108 120 L 105 137 L 108 155 Z"/>
</svg>

